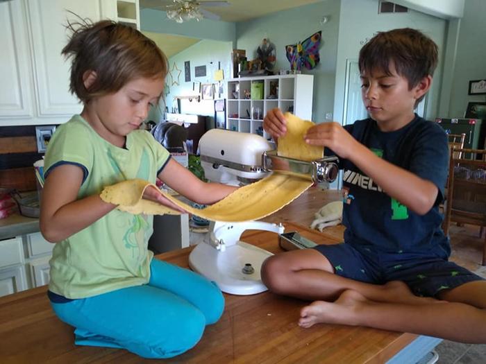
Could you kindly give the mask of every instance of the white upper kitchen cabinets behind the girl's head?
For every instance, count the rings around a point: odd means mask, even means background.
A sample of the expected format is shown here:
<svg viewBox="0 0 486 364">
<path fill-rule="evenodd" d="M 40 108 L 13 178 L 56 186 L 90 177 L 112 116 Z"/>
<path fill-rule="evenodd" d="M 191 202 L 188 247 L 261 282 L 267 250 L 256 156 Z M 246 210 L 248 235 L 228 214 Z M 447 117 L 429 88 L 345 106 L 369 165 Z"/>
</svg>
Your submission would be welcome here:
<svg viewBox="0 0 486 364">
<path fill-rule="evenodd" d="M 69 35 L 65 24 L 67 19 L 79 21 L 76 15 L 92 21 L 117 20 L 117 3 L 116 0 L 0 2 L 1 126 L 58 124 L 81 112 L 81 103 L 69 92 L 71 62 L 60 54 Z"/>
</svg>

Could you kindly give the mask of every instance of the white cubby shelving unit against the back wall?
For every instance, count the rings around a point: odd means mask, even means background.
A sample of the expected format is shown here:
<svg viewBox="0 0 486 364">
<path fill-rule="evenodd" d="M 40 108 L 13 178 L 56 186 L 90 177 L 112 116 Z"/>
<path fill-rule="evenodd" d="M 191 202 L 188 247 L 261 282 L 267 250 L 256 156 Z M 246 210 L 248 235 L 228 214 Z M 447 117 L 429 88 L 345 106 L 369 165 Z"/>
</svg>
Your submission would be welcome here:
<svg viewBox="0 0 486 364">
<path fill-rule="evenodd" d="M 231 78 L 227 83 L 228 130 L 251 132 L 269 139 L 263 130 L 263 118 L 275 107 L 301 119 L 312 118 L 312 75 Z"/>
</svg>

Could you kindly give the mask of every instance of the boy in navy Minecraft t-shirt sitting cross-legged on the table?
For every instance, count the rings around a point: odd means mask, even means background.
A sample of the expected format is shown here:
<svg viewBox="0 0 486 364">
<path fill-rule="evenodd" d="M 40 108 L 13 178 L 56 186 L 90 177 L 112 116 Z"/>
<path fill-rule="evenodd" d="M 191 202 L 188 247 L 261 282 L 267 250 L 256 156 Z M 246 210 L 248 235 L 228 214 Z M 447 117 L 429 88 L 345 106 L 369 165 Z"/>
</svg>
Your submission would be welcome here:
<svg viewBox="0 0 486 364">
<path fill-rule="evenodd" d="M 316 300 L 301 310 L 301 327 L 364 325 L 486 343 L 486 283 L 447 260 L 440 226 L 446 135 L 414 114 L 436 65 L 437 45 L 419 31 L 378 33 L 359 59 L 369 119 L 321 123 L 305 135 L 340 157 L 349 198 L 344 243 L 278 254 L 262 267 L 270 291 Z M 276 139 L 285 123 L 275 109 L 264 128 Z"/>
</svg>

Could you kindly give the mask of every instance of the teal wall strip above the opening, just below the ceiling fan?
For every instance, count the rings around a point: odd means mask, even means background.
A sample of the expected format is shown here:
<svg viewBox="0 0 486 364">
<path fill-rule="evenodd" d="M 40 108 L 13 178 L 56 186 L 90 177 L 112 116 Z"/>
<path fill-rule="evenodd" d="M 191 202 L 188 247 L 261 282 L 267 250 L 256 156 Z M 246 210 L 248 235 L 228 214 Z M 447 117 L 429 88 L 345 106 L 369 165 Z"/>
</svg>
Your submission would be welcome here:
<svg viewBox="0 0 486 364">
<path fill-rule="evenodd" d="M 221 40 L 233 42 L 236 40 L 235 23 L 201 19 L 200 21 L 184 21 L 179 24 L 167 19 L 165 11 L 142 9 L 140 11 L 140 30 L 162 34 L 183 35 L 205 40 Z"/>
</svg>

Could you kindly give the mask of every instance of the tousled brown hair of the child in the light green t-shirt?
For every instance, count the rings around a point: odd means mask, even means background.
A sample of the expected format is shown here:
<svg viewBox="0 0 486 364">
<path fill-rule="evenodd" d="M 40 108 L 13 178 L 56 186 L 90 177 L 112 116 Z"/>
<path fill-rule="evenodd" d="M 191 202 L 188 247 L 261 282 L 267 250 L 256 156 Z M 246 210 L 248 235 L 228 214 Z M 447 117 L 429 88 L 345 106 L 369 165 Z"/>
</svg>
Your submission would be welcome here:
<svg viewBox="0 0 486 364">
<path fill-rule="evenodd" d="M 72 57 L 69 90 L 87 103 L 112 94 L 135 78 L 165 78 L 167 58 L 158 46 L 136 29 L 111 20 L 68 22 L 72 36 L 61 54 Z M 83 75 L 95 71 L 97 78 L 86 89 Z"/>
</svg>

